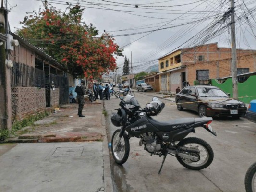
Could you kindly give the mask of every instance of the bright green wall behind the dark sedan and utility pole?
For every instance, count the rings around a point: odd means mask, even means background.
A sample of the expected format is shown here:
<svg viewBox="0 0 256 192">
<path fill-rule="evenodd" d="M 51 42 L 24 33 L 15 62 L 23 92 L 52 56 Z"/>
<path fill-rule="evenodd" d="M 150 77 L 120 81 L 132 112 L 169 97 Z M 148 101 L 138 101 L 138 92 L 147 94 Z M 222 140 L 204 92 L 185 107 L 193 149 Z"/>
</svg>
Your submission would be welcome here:
<svg viewBox="0 0 256 192">
<path fill-rule="evenodd" d="M 233 97 L 232 78 L 228 78 L 223 84 L 219 84 L 215 79 L 211 80 L 212 86 L 217 86 Z M 238 99 L 244 103 L 250 103 L 256 99 L 256 75 L 250 76 L 244 83 L 238 83 Z"/>
</svg>

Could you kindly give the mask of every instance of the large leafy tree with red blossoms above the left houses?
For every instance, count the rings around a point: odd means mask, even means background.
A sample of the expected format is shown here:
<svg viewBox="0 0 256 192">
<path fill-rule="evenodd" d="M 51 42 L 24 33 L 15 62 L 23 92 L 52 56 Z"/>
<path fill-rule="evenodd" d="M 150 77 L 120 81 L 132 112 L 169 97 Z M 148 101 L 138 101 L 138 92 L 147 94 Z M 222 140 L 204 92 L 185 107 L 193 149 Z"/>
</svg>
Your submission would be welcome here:
<svg viewBox="0 0 256 192">
<path fill-rule="evenodd" d="M 109 34 L 96 37 L 98 30 L 93 24 L 82 22 L 84 8 L 67 5 L 63 12 L 45 1 L 44 9 L 29 13 L 16 33 L 67 65 L 74 77 L 97 78 L 114 71 L 116 56 L 121 56 L 122 50 Z"/>
</svg>

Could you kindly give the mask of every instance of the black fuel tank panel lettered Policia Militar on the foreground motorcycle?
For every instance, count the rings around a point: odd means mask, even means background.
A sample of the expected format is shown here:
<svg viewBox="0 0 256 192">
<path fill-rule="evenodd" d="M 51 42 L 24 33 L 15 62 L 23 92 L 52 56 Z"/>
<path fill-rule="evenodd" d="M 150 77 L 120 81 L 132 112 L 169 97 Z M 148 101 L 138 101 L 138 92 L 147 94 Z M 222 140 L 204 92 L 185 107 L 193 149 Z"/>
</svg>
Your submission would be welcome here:
<svg viewBox="0 0 256 192">
<path fill-rule="evenodd" d="M 130 136 L 139 138 L 140 134 L 145 132 L 158 132 L 159 130 L 148 122 L 145 115 L 131 125 L 127 126 L 125 131 L 127 131 Z"/>
</svg>

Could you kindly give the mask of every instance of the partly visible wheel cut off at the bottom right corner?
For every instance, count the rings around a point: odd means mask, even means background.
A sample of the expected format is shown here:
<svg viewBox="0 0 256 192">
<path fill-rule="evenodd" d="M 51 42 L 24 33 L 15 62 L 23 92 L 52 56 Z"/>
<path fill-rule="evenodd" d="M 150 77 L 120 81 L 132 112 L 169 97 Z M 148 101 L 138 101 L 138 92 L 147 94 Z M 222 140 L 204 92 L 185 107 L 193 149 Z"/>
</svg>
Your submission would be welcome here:
<svg viewBox="0 0 256 192">
<path fill-rule="evenodd" d="M 246 192 L 256 192 L 256 162 L 246 171 L 244 184 Z"/>
</svg>

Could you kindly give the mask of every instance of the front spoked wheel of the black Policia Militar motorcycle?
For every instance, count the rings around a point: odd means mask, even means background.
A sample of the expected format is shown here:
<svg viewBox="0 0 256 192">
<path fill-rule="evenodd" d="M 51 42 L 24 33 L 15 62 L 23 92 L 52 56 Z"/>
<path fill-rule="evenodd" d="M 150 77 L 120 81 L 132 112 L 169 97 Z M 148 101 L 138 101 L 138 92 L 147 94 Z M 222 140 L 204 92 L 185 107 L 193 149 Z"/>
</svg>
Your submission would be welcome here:
<svg viewBox="0 0 256 192">
<path fill-rule="evenodd" d="M 117 144 L 117 140 L 119 138 L 119 133 L 121 129 L 117 129 L 112 136 L 111 139 L 111 151 L 112 156 L 117 164 L 123 164 L 127 161 L 130 153 L 130 143 L 127 134 L 124 132 L 122 138 Z M 117 151 L 114 152 L 114 147 L 117 146 Z"/>
</svg>

